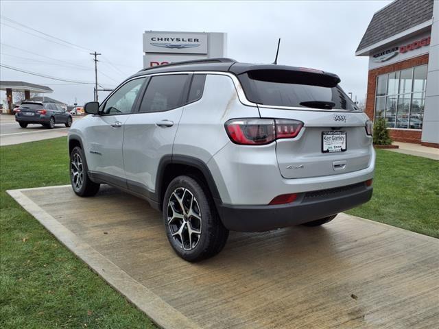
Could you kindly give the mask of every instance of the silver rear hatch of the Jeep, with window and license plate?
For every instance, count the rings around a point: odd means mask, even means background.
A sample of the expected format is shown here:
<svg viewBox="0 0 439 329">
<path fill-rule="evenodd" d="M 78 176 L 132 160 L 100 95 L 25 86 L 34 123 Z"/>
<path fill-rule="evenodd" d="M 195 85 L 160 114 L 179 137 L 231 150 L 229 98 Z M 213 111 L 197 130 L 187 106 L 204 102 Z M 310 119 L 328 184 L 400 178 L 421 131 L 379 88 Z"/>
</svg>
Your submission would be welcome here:
<svg viewBox="0 0 439 329">
<path fill-rule="evenodd" d="M 245 75 L 240 80 L 247 80 L 243 84 L 246 95 L 260 104 L 262 118 L 303 123 L 296 138 L 276 141 L 284 178 L 337 175 L 369 166 L 372 138 L 366 134 L 368 118 L 338 86 L 337 75 L 309 69 L 249 71 Z"/>
</svg>

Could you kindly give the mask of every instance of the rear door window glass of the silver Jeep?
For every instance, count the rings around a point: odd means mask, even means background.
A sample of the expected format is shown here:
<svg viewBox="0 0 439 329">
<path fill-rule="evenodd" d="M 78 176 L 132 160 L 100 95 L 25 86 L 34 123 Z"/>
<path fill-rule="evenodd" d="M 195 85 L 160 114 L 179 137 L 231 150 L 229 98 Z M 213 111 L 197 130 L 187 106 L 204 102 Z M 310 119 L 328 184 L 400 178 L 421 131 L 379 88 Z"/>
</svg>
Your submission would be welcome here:
<svg viewBox="0 0 439 329">
<path fill-rule="evenodd" d="M 187 77 L 187 74 L 152 77 L 139 112 L 163 112 L 182 106 Z"/>
</svg>

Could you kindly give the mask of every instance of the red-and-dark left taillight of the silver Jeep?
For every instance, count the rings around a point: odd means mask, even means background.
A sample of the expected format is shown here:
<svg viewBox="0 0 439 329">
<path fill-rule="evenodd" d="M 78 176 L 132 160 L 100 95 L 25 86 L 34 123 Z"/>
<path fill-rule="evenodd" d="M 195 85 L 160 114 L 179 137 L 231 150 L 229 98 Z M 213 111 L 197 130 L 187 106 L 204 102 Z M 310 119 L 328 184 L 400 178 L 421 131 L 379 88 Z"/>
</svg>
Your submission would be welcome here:
<svg viewBox="0 0 439 329">
<path fill-rule="evenodd" d="M 232 119 L 226 132 L 233 143 L 265 145 L 280 138 L 294 138 L 303 127 L 302 121 L 284 119 Z"/>
</svg>

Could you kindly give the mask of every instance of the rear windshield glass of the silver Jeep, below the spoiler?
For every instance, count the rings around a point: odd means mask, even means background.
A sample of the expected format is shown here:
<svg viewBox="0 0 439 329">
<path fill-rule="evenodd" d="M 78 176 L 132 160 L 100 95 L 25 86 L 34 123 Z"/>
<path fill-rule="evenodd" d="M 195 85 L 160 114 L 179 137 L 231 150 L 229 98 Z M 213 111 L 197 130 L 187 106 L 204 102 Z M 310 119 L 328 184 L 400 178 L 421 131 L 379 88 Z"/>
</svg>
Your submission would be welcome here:
<svg viewBox="0 0 439 329">
<path fill-rule="evenodd" d="M 246 96 L 254 103 L 268 106 L 358 110 L 338 85 L 318 86 L 318 82 L 313 83 L 312 80 L 306 80 L 307 83 L 304 84 L 304 81 L 295 81 L 294 77 L 288 81 L 270 81 L 269 77 L 261 80 L 247 73 L 246 77 L 241 77 L 240 80 L 244 82 Z"/>
</svg>

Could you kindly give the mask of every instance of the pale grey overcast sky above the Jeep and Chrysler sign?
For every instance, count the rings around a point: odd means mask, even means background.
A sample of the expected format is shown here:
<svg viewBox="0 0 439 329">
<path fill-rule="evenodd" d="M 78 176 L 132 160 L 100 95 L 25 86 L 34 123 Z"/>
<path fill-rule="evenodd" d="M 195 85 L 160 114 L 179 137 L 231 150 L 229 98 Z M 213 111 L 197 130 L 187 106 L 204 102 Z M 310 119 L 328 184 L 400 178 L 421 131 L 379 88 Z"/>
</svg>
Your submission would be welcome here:
<svg viewBox="0 0 439 329">
<path fill-rule="evenodd" d="M 281 38 L 278 64 L 337 73 L 346 93 L 352 92 L 360 100 L 366 94 L 368 58 L 355 57 L 355 49 L 374 12 L 390 2 L 1 1 L 0 62 L 66 80 L 94 82 L 87 49 L 96 50 L 103 55 L 98 80 L 106 88 L 114 88 L 142 68 L 145 30 L 226 32 L 228 57 L 273 62 Z M 93 100 L 93 85 L 49 80 L 3 67 L 0 75 L 1 80 L 50 86 L 54 93 L 49 96 L 65 103 Z M 4 91 L 1 99 L 5 99 Z"/>
</svg>

